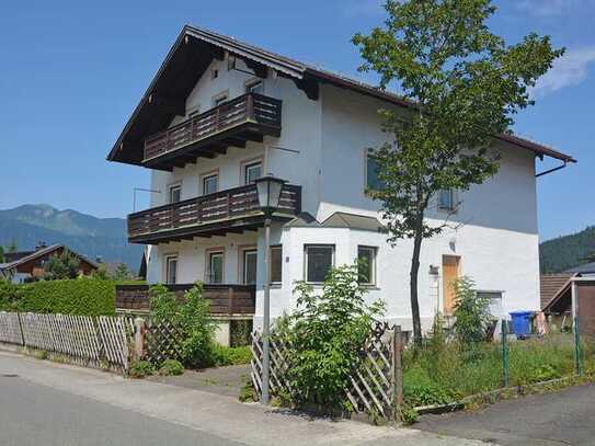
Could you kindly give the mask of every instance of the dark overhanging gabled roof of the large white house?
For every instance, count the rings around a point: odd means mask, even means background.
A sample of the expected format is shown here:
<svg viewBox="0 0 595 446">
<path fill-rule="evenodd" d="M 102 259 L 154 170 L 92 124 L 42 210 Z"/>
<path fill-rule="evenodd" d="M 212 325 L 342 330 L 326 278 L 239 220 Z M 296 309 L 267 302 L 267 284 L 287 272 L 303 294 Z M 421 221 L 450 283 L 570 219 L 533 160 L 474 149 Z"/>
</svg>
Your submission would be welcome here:
<svg viewBox="0 0 595 446">
<path fill-rule="evenodd" d="M 174 116 L 185 114 L 185 99 L 213 59 L 222 60 L 226 52 L 243 59 L 259 76 L 264 77 L 267 69 L 272 69 L 294 80 L 296 85 L 313 100 L 318 99 L 319 85 L 330 83 L 394 105 L 415 106 L 411 101 L 394 93 L 348 77 L 213 31 L 185 25 L 110 151 L 107 160 L 140 164 L 144 138 L 165 129 Z M 547 156 L 564 162 L 575 162 L 570 155 L 528 139 L 513 135 L 497 135 L 495 138 L 530 150 L 539 157 Z"/>
</svg>

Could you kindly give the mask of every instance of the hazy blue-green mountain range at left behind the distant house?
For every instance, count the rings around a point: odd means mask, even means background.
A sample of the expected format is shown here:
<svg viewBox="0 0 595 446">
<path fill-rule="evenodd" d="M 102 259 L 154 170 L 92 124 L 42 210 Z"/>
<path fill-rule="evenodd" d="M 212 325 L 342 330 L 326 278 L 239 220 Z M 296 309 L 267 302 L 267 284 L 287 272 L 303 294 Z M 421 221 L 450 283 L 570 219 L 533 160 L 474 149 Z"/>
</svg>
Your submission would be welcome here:
<svg viewBox="0 0 595 446">
<path fill-rule="evenodd" d="M 138 271 L 142 247 L 129 244 L 124 218 L 98 218 L 49 205 L 23 205 L 0 210 L 0 244 L 16 243 L 19 251 L 39 242 L 62 243 L 90 260 L 126 263 Z"/>
</svg>

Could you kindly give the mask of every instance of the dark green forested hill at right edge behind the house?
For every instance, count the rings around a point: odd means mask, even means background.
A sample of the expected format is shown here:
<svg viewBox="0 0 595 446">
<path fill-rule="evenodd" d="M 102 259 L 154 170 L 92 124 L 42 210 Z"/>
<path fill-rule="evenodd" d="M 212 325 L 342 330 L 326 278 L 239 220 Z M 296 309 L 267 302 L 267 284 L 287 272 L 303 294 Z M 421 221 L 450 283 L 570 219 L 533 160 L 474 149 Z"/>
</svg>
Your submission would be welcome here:
<svg viewBox="0 0 595 446">
<path fill-rule="evenodd" d="M 581 232 L 545 241 L 539 245 L 541 273 L 559 273 L 583 263 L 594 262 L 595 226 Z M 588 260 L 588 258 L 592 258 Z"/>
</svg>

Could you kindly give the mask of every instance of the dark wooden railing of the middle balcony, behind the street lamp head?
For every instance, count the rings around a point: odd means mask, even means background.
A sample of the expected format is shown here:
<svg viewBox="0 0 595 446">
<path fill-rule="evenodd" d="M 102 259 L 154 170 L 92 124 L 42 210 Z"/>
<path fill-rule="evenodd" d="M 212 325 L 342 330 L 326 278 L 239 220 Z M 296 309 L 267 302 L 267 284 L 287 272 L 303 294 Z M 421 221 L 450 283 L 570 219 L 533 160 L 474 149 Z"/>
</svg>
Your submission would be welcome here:
<svg viewBox="0 0 595 446">
<path fill-rule="evenodd" d="M 301 210 L 301 187 L 285 184 L 283 186 L 277 216 L 293 217 Z M 243 217 L 262 216 L 259 206 L 256 185 L 233 187 L 214 194 L 185 199 L 128 216 L 128 239 L 136 240 L 147 235 L 196 228 L 220 222 L 225 224 Z"/>
</svg>

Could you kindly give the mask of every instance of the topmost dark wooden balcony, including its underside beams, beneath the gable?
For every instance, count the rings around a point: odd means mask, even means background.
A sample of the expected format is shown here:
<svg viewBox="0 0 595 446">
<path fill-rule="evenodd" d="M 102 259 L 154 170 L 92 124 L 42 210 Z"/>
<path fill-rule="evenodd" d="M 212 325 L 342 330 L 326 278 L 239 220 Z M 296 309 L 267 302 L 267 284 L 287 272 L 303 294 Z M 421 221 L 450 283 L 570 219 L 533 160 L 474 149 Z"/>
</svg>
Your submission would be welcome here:
<svg viewBox="0 0 595 446">
<path fill-rule="evenodd" d="M 282 101 L 247 93 L 147 138 L 142 164 L 171 170 L 226 153 L 230 146 L 262 142 L 264 135 L 278 137 L 281 113 Z"/>
</svg>

